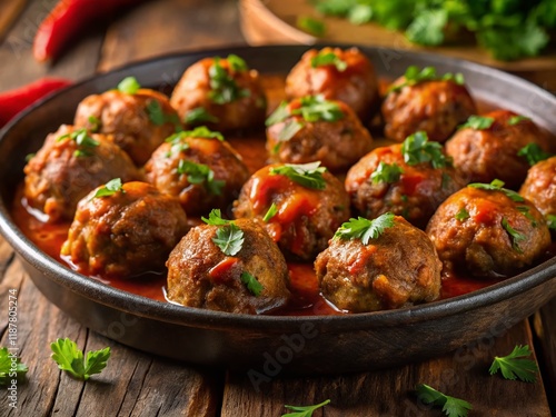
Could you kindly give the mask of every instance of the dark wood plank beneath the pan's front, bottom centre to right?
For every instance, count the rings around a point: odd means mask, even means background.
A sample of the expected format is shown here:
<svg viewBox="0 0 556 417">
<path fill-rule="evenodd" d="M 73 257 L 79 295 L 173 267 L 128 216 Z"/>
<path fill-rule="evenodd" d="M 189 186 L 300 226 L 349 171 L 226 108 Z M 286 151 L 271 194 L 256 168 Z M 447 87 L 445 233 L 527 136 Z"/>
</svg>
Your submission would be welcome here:
<svg viewBox="0 0 556 417">
<path fill-rule="evenodd" d="M 468 400 L 476 416 L 549 416 L 542 380 L 526 384 L 488 374 L 494 356 L 509 354 L 516 344 L 533 346 L 526 321 L 441 358 L 397 369 L 331 378 L 278 377 L 260 386 L 252 385 L 247 374 L 229 374 L 221 416 L 278 416 L 286 411 L 285 404 L 310 405 L 327 398 L 330 405 L 315 417 L 440 416 L 419 404 L 414 394 L 417 384 Z"/>
</svg>

